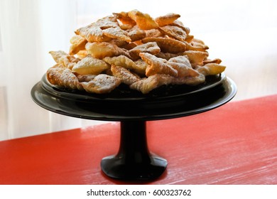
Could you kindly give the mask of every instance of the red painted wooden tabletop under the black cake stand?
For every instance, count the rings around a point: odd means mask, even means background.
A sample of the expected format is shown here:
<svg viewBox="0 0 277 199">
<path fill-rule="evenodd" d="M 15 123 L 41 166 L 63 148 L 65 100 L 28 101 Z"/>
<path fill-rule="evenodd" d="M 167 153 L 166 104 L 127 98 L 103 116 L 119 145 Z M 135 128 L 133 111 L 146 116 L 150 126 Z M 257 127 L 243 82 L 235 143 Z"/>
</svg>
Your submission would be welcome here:
<svg viewBox="0 0 277 199">
<path fill-rule="evenodd" d="M 168 160 L 156 181 L 104 176 L 119 123 L 0 142 L 0 184 L 277 184 L 277 95 L 147 122 L 149 149 Z"/>
</svg>

